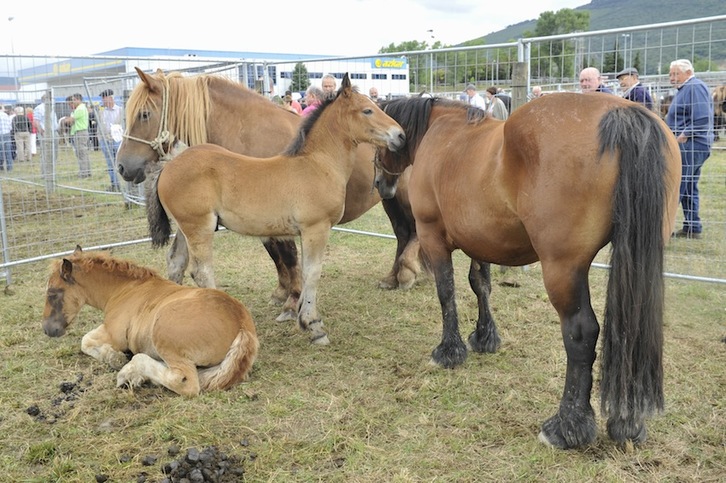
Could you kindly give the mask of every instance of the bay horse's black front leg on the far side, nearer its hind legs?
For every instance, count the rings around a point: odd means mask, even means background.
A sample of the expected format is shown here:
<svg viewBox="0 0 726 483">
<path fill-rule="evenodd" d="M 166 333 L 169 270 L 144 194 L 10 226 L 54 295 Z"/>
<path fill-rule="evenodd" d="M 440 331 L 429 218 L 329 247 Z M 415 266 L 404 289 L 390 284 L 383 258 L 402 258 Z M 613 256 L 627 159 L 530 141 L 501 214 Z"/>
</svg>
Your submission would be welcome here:
<svg viewBox="0 0 726 483">
<path fill-rule="evenodd" d="M 488 263 L 471 261 L 469 285 L 476 294 L 479 318 L 476 330 L 469 335 L 469 346 L 474 352 L 496 352 L 501 339 L 489 310 L 489 295 L 492 293 L 491 266 Z"/>
</svg>

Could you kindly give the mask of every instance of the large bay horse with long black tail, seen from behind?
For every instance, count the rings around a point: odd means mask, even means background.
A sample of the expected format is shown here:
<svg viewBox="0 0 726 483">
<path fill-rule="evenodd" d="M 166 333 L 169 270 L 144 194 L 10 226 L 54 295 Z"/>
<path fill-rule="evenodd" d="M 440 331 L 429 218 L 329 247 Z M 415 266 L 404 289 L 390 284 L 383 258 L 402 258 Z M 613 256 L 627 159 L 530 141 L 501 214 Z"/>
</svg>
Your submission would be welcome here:
<svg viewBox="0 0 726 483">
<path fill-rule="evenodd" d="M 406 131 L 407 146 L 381 151 L 379 164 L 389 177 L 413 165 L 409 197 L 441 303 L 443 336 L 433 361 L 452 368 L 467 356 L 454 250 L 472 259 L 469 283 L 479 316 L 468 342 L 476 352 L 500 345 L 489 310 L 489 264 L 539 260 L 567 353 L 560 406 L 542 425 L 540 440 L 558 448 L 593 442 L 590 392 L 600 326 L 588 272 L 611 243 L 600 405 L 613 440 L 644 441 L 646 418 L 663 406 L 663 252 L 681 172 L 678 145 L 663 121 L 600 94 L 546 96 L 506 122 L 469 121 L 466 107 L 440 99 L 394 100 L 384 109 Z M 385 188 L 385 179 L 379 182 Z"/>
</svg>

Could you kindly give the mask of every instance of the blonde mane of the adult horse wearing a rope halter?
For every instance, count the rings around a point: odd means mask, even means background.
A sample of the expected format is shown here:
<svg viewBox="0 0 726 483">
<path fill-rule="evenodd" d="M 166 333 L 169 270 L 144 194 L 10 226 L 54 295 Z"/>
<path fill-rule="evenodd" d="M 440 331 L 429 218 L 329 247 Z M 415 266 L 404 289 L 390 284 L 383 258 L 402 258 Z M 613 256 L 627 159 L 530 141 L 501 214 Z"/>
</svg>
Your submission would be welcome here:
<svg viewBox="0 0 726 483">
<path fill-rule="evenodd" d="M 172 72 L 169 75 L 157 72 L 150 77 L 159 81 L 168 91 L 167 121 L 172 141 L 179 139 L 187 146 L 207 142 L 210 83 L 227 82 L 230 85 L 241 87 L 229 79 L 215 75 L 187 77 L 180 72 Z M 161 112 L 162 106 L 157 105 L 149 94 L 149 86 L 145 82 L 140 82 L 131 92 L 126 103 L 127 126 L 132 126 L 139 113 L 149 108 L 149 104 Z"/>
</svg>

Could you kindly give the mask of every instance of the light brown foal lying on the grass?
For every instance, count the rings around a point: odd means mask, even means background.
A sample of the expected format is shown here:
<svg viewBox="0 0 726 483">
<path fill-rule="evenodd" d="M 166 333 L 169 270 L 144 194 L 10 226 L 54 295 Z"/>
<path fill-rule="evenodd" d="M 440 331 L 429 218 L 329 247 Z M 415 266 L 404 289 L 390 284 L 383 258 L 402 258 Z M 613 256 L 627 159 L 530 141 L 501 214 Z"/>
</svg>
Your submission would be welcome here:
<svg viewBox="0 0 726 483">
<path fill-rule="evenodd" d="M 105 315 L 81 350 L 120 369 L 119 387 L 148 380 L 183 396 L 227 389 L 247 378 L 257 357 L 255 324 L 235 298 L 76 247 L 51 265 L 43 330 L 62 336 L 84 305 Z"/>
</svg>

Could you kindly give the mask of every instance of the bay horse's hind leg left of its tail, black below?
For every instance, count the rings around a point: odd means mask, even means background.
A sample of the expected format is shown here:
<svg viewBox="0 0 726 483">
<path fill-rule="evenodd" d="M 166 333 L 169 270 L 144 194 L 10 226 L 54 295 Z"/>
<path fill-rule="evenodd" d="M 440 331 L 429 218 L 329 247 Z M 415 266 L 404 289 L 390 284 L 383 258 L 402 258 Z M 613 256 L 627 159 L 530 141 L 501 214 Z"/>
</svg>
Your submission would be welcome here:
<svg viewBox="0 0 726 483">
<path fill-rule="evenodd" d="M 588 268 L 589 263 L 582 267 L 554 267 L 542 262 L 547 294 L 560 315 L 567 372 L 559 410 L 542 424 L 539 439 L 561 449 L 588 445 L 597 436 L 590 392 L 600 326 L 590 305 Z"/>
</svg>

